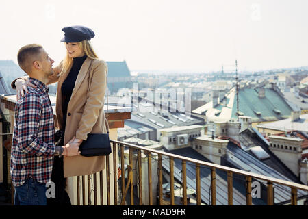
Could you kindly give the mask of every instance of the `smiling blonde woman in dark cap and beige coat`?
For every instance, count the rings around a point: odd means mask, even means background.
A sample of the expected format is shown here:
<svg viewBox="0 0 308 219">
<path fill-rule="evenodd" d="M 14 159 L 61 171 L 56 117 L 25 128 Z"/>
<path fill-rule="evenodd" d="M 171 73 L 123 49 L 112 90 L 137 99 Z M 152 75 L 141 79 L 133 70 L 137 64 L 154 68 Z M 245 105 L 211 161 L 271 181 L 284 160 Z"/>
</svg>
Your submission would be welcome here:
<svg viewBox="0 0 308 219">
<path fill-rule="evenodd" d="M 57 82 L 56 114 L 57 126 L 64 132 L 64 145 L 76 136 L 75 141 L 87 140 L 88 133 L 107 133 L 107 120 L 103 111 L 106 90 L 107 64 L 99 60 L 89 40 L 94 32 L 88 27 L 71 26 L 62 29 L 65 36 L 66 57 L 53 69 L 49 83 Z M 17 98 L 34 86 L 26 77 L 18 78 Z M 51 180 L 55 183 L 55 198 L 49 204 L 68 204 L 64 177 L 90 175 L 105 168 L 105 157 L 62 157 L 55 159 Z M 57 190 L 57 188 L 60 188 Z M 73 185 L 68 182 L 68 190 Z"/>
</svg>

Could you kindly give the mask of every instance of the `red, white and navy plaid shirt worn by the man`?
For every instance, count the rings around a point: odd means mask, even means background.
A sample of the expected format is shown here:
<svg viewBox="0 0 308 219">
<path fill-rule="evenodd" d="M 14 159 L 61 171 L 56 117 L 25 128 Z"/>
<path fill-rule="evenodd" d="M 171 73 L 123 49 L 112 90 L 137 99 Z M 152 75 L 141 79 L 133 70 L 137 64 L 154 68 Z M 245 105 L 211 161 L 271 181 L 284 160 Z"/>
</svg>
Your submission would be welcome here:
<svg viewBox="0 0 308 219">
<path fill-rule="evenodd" d="M 49 88 L 34 78 L 37 88 L 17 101 L 11 152 L 11 178 L 14 186 L 31 177 L 40 183 L 51 181 L 55 127 L 49 100 Z"/>
</svg>

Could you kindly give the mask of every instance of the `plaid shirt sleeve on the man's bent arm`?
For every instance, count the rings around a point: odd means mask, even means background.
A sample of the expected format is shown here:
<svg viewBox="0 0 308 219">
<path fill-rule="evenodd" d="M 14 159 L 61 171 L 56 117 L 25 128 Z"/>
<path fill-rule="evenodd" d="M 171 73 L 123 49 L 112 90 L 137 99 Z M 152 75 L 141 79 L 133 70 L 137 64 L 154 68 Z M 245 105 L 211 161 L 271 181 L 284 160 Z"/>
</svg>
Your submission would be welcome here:
<svg viewBox="0 0 308 219">
<path fill-rule="evenodd" d="M 39 123 L 44 123 L 41 117 L 42 103 L 40 96 L 29 92 L 18 106 L 16 125 L 18 128 L 18 145 L 23 153 L 36 156 L 51 157 L 55 147 L 38 138 Z"/>
</svg>

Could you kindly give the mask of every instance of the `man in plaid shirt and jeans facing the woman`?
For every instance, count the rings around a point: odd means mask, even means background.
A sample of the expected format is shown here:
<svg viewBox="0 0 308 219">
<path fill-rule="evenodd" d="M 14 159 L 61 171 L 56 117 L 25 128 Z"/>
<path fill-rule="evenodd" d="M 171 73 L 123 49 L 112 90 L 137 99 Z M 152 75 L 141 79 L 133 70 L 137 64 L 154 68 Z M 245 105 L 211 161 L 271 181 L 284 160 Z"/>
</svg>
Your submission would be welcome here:
<svg viewBox="0 0 308 219">
<path fill-rule="evenodd" d="M 18 51 L 18 64 L 36 88 L 19 99 L 11 151 L 11 178 L 15 188 L 14 205 L 47 205 L 46 183 L 51 181 L 53 156 L 79 155 L 79 144 L 70 140 L 55 146 L 53 110 L 48 96 L 53 60 L 39 44 Z"/>
</svg>

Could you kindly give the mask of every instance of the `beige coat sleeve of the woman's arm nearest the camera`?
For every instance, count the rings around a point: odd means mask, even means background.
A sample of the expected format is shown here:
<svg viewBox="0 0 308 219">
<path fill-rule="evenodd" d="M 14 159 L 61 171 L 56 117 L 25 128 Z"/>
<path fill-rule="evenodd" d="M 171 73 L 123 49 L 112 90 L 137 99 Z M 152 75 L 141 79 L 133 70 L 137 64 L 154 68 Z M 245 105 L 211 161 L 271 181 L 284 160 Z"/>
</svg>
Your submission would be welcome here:
<svg viewBox="0 0 308 219">
<path fill-rule="evenodd" d="M 76 131 L 77 139 L 87 140 L 88 133 L 92 131 L 92 127 L 97 123 L 99 111 L 102 110 L 104 106 L 105 90 L 107 86 L 106 78 L 107 64 L 100 61 L 93 69 L 93 77 L 88 91 L 88 99 Z"/>
</svg>

